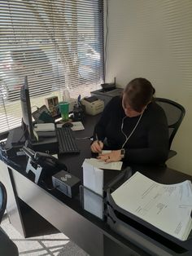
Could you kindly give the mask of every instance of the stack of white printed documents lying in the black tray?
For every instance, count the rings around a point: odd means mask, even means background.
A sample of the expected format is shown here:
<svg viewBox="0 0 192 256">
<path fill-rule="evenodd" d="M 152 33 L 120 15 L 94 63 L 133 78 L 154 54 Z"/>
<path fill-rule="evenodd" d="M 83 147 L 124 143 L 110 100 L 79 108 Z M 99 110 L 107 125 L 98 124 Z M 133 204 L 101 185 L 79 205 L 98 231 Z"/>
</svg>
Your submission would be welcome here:
<svg viewBox="0 0 192 256">
<path fill-rule="evenodd" d="M 161 184 L 136 172 L 111 193 L 116 205 L 185 241 L 192 229 L 192 184 Z"/>
</svg>

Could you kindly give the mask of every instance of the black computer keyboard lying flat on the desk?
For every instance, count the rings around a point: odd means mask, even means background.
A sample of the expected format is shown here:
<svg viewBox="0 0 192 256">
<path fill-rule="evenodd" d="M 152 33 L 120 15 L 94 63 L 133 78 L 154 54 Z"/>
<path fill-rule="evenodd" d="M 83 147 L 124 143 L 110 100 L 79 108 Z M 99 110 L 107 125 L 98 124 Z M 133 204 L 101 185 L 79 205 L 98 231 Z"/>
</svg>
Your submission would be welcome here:
<svg viewBox="0 0 192 256">
<path fill-rule="evenodd" d="M 79 153 L 76 141 L 70 127 L 56 128 L 56 135 L 59 141 L 59 153 Z"/>
</svg>

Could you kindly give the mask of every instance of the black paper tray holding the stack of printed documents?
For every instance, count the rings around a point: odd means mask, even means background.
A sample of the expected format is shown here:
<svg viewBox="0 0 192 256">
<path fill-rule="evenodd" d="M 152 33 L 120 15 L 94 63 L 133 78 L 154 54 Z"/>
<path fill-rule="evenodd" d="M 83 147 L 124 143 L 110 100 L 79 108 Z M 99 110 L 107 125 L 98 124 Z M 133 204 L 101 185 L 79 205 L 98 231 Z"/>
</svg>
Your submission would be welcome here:
<svg viewBox="0 0 192 256">
<path fill-rule="evenodd" d="M 121 183 L 129 178 L 121 174 Z M 126 179 L 125 179 L 126 178 Z M 116 179 L 118 187 L 120 179 Z M 116 187 L 113 181 L 112 187 Z M 192 255 L 192 239 L 180 241 L 116 205 L 107 189 L 107 223 L 115 232 L 152 255 Z"/>
</svg>

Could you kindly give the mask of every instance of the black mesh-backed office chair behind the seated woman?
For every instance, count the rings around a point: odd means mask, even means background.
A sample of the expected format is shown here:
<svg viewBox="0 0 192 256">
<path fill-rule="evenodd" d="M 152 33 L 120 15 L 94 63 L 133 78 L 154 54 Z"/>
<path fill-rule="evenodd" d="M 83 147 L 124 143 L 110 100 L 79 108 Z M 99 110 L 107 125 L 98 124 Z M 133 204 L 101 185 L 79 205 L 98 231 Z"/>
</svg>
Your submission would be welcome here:
<svg viewBox="0 0 192 256">
<path fill-rule="evenodd" d="M 185 116 L 185 108 L 181 104 L 172 101 L 171 99 L 155 98 L 155 102 L 164 109 L 164 113 L 168 119 L 168 132 L 169 132 L 169 152 L 168 159 L 174 157 L 177 152 L 171 150 L 172 140 L 174 139 L 179 126 Z"/>
</svg>

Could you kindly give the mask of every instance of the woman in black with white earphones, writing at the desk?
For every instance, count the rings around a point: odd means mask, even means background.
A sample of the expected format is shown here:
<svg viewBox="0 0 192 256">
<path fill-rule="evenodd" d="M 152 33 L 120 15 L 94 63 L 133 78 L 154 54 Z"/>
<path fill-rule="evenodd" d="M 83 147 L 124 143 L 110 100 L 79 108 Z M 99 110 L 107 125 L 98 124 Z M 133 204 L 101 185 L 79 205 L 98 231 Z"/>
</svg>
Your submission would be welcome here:
<svg viewBox="0 0 192 256">
<path fill-rule="evenodd" d="M 122 96 L 111 99 L 94 128 L 92 152 L 101 161 L 161 165 L 168 158 L 168 123 L 163 108 L 153 100 L 151 82 L 135 78 Z"/>
</svg>

